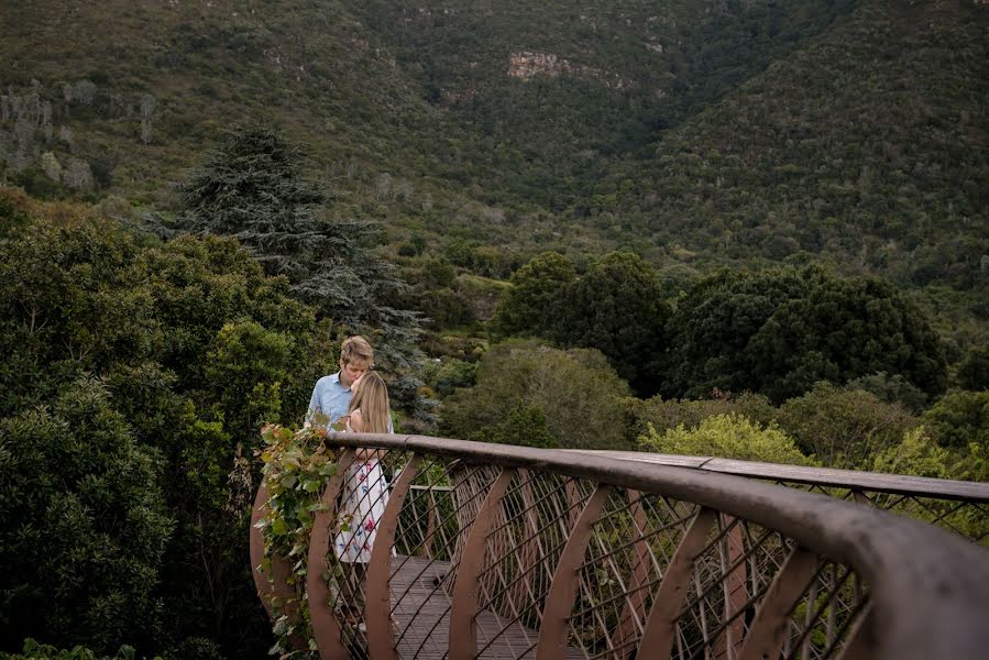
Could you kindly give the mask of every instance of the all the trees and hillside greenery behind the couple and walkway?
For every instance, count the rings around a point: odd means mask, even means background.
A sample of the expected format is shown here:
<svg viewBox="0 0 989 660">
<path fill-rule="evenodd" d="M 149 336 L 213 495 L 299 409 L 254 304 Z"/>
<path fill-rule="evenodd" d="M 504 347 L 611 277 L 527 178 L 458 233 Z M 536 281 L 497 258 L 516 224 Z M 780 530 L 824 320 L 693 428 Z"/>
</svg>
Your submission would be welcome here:
<svg viewBox="0 0 989 660">
<path fill-rule="evenodd" d="M 285 650 L 356 333 L 400 433 L 989 480 L 987 12 L 0 3 L 0 658 Z"/>
</svg>

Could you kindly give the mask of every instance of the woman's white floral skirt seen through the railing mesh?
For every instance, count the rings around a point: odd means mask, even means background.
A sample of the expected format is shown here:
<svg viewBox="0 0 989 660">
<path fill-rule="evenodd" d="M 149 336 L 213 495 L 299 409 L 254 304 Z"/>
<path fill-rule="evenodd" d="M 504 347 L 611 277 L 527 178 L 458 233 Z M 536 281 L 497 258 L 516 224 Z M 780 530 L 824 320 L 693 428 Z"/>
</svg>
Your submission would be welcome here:
<svg viewBox="0 0 989 660">
<path fill-rule="evenodd" d="M 347 430 L 350 421 L 347 422 Z M 333 542 L 340 561 L 371 561 L 371 549 L 377 536 L 377 524 L 388 503 L 388 481 L 377 459 L 361 461 L 354 459 L 347 469 L 343 497 L 340 503 L 340 532 Z"/>
</svg>

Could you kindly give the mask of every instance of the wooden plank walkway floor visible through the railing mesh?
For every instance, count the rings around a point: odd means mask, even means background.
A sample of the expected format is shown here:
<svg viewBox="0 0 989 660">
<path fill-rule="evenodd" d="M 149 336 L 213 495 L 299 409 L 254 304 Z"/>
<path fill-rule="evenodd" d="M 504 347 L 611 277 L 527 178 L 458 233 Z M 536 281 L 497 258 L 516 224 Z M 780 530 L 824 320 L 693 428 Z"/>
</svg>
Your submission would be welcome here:
<svg viewBox="0 0 989 660">
<path fill-rule="evenodd" d="M 430 561 L 425 557 L 399 554 L 392 558 L 392 620 L 400 658 L 442 660 L 447 657 L 451 597 L 449 584 L 443 581 L 449 569 L 450 562 Z M 535 630 L 487 610 L 479 614 L 475 620 L 477 646 L 483 649 L 479 658 L 536 657 L 539 635 Z M 351 652 L 360 656 L 360 649 L 352 648 Z M 567 658 L 584 660 L 585 656 L 579 649 L 570 648 Z"/>
</svg>

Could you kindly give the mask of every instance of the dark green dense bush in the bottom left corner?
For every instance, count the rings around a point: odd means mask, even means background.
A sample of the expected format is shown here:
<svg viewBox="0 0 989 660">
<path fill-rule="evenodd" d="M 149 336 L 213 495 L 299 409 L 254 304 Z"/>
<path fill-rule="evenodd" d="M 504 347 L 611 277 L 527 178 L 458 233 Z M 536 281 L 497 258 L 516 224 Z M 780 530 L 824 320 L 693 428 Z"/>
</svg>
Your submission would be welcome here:
<svg viewBox="0 0 989 660">
<path fill-rule="evenodd" d="M 138 443 L 94 380 L 0 420 L 3 646 L 31 636 L 108 652 L 162 636 L 173 520 L 161 454 Z"/>
</svg>

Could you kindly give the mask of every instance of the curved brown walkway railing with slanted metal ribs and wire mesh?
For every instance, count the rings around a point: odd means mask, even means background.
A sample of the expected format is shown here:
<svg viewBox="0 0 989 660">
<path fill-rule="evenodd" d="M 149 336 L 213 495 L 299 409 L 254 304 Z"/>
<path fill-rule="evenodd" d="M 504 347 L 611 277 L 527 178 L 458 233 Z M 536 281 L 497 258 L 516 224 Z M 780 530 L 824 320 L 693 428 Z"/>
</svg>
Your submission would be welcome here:
<svg viewBox="0 0 989 660">
<path fill-rule="evenodd" d="M 732 462 L 738 476 L 705 459 L 664 465 L 692 459 L 415 436 L 328 443 L 340 469 L 301 562 L 322 658 L 899 660 L 989 649 L 989 551 L 842 499 L 923 503 L 914 513 L 980 541 L 986 484 L 903 488 L 868 473 Z M 382 514 L 371 527 L 343 521 L 374 532 L 366 566 L 330 549 L 339 496 L 360 492 L 361 448 L 380 450 L 389 480 L 365 503 Z M 265 501 L 262 487 L 255 519 Z M 253 525 L 251 541 L 260 566 Z M 271 575 L 255 569 L 270 613 L 296 615 L 293 573 L 279 558 Z"/>
</svg>

